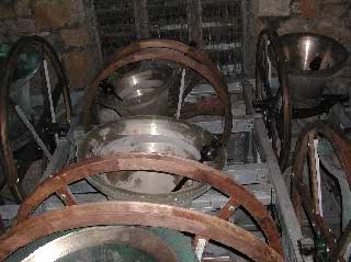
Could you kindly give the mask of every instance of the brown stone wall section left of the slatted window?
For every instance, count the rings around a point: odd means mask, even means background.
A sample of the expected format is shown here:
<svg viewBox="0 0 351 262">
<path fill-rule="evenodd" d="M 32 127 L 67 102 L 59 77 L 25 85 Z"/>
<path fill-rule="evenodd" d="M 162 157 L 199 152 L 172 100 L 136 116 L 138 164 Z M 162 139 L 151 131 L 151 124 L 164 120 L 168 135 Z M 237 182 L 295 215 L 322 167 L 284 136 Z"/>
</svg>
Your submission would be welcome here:
<svg viewBox="0 0 351 262">
<path fill-rule="evenodd" d="M 84 88 L 101 66 L 90 0 L 0 0 L 0 42 L 41 35 L 59 53 L 71 88 Z"/>
</svg>

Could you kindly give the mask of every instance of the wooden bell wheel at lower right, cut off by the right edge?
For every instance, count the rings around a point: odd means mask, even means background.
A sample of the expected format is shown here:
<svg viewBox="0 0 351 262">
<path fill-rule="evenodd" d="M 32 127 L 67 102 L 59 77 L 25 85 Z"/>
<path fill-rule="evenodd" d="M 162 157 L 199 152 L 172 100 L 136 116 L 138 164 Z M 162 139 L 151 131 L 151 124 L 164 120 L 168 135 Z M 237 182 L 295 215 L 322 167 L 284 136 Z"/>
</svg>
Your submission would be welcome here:
<svg viewBox="0 0 351 262">
<path fill-rule="evenodd" d="M 350 143 L 340 132 L 326 123 L 316 122 L 301 134 L 296 145 L 292 171 L 293 206 L 301 223 L 303 212 L 307 216 L 314 232 L 316 261 L 346 261 L 346 252 L 351 242 L 351 220 L 343 227 L 339 239 L 326 221 L 322 208 L 324 191 L 320 189 L 322 174 L 319 173 L 319 157 L 316 148 L 318 135 L 330 143 L 344 171 L 343 181 L 351 190 Z M 308 178 L 304 176 L 305 166 L 308 167 Z"/>
</svg>

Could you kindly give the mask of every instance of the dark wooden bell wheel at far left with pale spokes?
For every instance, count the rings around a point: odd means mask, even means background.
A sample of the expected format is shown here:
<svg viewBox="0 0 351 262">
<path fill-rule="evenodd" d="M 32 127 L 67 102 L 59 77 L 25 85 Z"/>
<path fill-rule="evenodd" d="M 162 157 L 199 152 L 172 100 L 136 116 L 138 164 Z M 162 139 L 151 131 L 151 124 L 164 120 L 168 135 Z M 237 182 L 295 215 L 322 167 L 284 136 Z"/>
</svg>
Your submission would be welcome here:
<svg viewBox="0 0 351 262">
<path fill-rule="evenodd" d="M 35 59 L 25 64 L 23 59 L 33 54 Z M 36 69 L 25 75 L 33 64 Z M 22 181 L 31 163 L 50 159 L 71 117 L 68 80 L 48 42 L 26 36 L 15 43 L 1 71 L 0 92 L 2 168 L 12 195 L 21 202 Z"/>
</svg>

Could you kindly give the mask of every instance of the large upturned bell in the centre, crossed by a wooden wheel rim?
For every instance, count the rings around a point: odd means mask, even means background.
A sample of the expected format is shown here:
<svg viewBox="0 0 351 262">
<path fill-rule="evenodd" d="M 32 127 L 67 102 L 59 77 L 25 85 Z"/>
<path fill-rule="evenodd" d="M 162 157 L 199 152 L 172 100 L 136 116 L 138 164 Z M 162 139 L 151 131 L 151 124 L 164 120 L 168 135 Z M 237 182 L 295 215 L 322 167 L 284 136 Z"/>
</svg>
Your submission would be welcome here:
<svg viewBox="0 0 351 262">
<path fill-rule="evenodd" d="M 162 116 L 135 116 L 101 125 L 86 134 L 78 146 L 78 159 L 116 152 L 149 152 L 203 161 L 204 149 L 216 141 L 211 133 L 193 124 Z M 220 170 L 226 162 L 226 151 L 220 143 L 218 146 L 214 148 L 214 159 L 205 163 Z M 125 201 L 190 205 L 194 197 L 210 189 L 188 181 L 172 196 L 167 196 L 181 179 L 157 172 L 140 174 L 139 171 L 88 178 L 107 196 Z"/>
</svg>

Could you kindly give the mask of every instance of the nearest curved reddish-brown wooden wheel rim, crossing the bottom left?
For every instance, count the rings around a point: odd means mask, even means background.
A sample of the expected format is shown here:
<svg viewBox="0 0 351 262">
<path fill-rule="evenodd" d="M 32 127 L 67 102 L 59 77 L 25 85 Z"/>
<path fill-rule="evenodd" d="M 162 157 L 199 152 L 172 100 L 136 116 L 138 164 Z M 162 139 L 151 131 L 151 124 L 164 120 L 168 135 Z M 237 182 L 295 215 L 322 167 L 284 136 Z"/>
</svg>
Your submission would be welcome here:
<svg viewBox="0 0 351 262">
<path fill-rule="evenodd" d="M 212 239 L 238 250 L 253 261 L 283 261 L 272 246 L 267 246 L 253 235 L 223 219 L 183 208 L 137 202 L 73 205 L 29 218 L 0 238 L 0 259 L 3 260 L 43 236 L 99 225 L 170 228 Z"/>
</svg>

